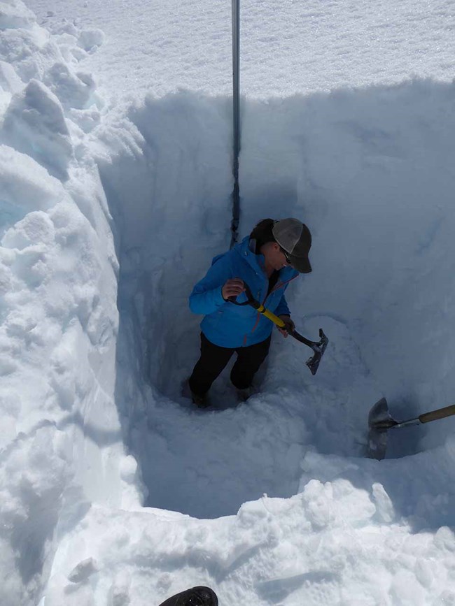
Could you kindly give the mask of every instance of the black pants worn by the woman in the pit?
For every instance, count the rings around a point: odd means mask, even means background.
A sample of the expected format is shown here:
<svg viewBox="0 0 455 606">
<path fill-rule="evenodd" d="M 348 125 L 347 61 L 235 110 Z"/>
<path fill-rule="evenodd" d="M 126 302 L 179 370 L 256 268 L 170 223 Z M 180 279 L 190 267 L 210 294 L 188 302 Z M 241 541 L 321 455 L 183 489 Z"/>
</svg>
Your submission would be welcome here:
<svg viewBox="0 0 455 606">
<path fill-rule="evenodd" d="M 231 370 L 231 381 L 237 389 L 250 387 L 255 373 L 269 353 L 272 335 L 265 341 L 247 347 L 220 347 L 201 333 L 201 357 L 197 361 L 188 383 L 193 394 L 204 396 L 211 384 L 237 352 L 237 360 Z"/>
</svg>

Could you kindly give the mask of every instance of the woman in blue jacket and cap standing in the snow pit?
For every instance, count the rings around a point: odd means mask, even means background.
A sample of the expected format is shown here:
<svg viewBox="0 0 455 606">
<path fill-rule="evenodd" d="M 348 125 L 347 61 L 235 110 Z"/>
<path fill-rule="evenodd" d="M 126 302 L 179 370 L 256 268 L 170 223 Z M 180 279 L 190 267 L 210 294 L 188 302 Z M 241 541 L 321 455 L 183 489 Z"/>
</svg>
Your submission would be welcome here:
<svg viewBox="0 0 455 606">
<path fill-rule="evenodd" d="M 190 294 L 190 310 L 204 314 L 201 322 L 201 356 L 188 379 L 193 403 L 210 405 L 207 393 L 234 352 L 237 360 L 230 380 L 239 401 L 254 393 L 253 377 L 267 357 L 274 324 L 247 300 L 245 284 L 253 297 L 286 324 L 284 337 L 295 326 L 284 292 L 299 273 L 311 272 L 308 254 L 311 233 L 298 219 L 262 219 L 249 236 L 212 261 L 207 275 Z"/>
</svg>

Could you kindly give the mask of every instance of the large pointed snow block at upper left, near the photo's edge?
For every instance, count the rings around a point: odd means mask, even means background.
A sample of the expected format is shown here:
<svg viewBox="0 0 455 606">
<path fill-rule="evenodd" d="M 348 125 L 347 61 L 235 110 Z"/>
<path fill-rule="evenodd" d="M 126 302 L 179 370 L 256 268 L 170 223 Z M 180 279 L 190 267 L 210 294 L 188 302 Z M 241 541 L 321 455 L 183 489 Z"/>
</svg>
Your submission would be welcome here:
<svg viewBox="0 0 455 606">
<path fill-rule="evenodd" d="M 38 80 L 31 80 L 24 92 L 13 96 L 1 138 L 29 154 L 57 178 L 68 178 L 66 168 L 73 157 L 73 146 L 62 105 Z"/>
</svg>

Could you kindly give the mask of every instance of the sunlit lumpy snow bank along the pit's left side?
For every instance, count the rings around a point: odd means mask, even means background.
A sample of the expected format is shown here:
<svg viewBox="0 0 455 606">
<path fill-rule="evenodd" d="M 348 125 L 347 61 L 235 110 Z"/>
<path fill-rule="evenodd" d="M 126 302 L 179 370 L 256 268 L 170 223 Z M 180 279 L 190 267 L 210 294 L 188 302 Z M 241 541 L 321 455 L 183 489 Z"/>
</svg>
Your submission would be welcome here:
<svg viewBox="0 0 455 606">
<path fill-rule="evenodd" d="M 92 501 L 132 505 L 137 491 L 119 471 L 106 199 L 96 167 L 75 162 L 83 143 L 50 81 L 59 46 L 22 3 L 1 6 L 0 601 L 13 606 L 36 603 L 59 536 Z"/>
</svg>

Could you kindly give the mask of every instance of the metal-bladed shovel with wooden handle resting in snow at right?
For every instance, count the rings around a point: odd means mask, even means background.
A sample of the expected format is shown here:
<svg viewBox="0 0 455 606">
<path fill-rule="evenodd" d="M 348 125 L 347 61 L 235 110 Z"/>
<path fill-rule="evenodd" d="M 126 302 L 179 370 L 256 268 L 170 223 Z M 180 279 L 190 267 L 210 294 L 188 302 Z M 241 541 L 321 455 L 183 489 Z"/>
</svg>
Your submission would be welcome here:
<svg viewBox="0 0 455 606">
<path fill-rule="evenodd" d="M 455 414 L 455 404 L 438 408 L 431 412 L 423 412 L 415 419 L 407 419 L 407 421 L 395 421 L 388 412 L 388 404 L 386 398 L 381 398 L 370 410 L 368 415 L 368 456 L 370 459 L 381 461 L 386 456 L 387 447 L 387 431 L 388 429 L 397 429 L 407 427 L 409 425 L 420 425 L 421 423 L 429 423 L 436 419 L 445 419 Z"/>
</svg>

